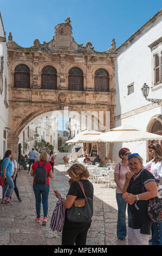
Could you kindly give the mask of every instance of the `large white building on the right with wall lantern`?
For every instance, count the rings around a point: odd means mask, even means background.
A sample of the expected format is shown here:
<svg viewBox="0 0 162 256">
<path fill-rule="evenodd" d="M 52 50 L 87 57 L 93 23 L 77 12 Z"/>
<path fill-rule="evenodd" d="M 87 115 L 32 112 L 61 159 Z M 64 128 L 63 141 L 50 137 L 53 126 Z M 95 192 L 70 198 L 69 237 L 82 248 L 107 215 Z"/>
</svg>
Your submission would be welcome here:
<svg viewBox="0 0 162 256">
<path fill-rule="evenodd" d="M 118 49 L 115 67 L 115 127 L 129 125 L 162 135 L 161 103 L 151 103 L 141 87 L 150 87 L 148 98 L 162 99 L 162 9 L 128 38 Z M 160 143 L 160 142 L 159 142 Z M 148 142 L 115 143 L 113 160 L 119 161 L 121 148 L 149 159 Z"/>
</svg>

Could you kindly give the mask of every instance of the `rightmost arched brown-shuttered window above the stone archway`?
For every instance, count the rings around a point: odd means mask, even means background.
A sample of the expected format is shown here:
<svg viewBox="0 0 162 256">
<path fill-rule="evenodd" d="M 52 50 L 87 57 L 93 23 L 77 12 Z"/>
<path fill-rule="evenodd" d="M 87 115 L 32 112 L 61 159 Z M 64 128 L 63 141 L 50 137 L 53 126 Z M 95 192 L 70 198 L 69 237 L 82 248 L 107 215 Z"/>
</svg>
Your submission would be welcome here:
<svg viewBox="0 0 162 256">
<path fill-rule="evenodd" d="M 94 88 L 95 92 L 109 92 L 108 72 L 104 69 L 95 71 Z"/>
</svg>

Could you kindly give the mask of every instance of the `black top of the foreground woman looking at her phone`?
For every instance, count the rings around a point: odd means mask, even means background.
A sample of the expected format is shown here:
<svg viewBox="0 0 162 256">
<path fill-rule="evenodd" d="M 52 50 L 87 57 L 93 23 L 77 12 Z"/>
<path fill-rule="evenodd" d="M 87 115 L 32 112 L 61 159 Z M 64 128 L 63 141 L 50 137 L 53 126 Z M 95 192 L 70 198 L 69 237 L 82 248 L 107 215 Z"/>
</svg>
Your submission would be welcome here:
<svg viewBox="0 0 162 256">
<path fill-rule="evenodd" d="M 81 181 L 81 183 L 83 184 L 86 197 L 93 199 L 94 189 L 93 189 L 92 183 L 89 180 L 79 180 L 79 181 Z M 70 196 L 76 196 L 76 199 L 77 198 L 85 198 L 83 195 L 83 192 L 81 190 L 81 187 L 77 181 L 72 182 L 72 184 L 70 185 L 68 194 Z M 67 196 L 68 196 L 68 194 L 67 194 Z M 82 225 L 85 225 L 85 224 L 88 224 L 91 222 L 91 221 L 90 222 L 70 222 L 67 219 L 67 210 L 68 209 L 66 209 L 66 212 L 65 212 L 64 227 L 66 227 L 66 228 L 67 227 L 76 227 L 76 226 L 79 227 L 79 226 L 82 226 Z"/>
</svg>

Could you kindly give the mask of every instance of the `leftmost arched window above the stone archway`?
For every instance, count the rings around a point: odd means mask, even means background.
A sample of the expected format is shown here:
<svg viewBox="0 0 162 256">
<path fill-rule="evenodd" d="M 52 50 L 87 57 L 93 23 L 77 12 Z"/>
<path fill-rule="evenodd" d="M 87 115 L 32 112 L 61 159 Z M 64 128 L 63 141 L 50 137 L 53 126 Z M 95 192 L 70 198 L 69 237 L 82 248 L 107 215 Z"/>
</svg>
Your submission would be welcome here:
<svg viewBox="0 0 162 256">
<path fill-rule="evenodd" d="M 14 74 L 14 87 L 30 88 L 30 70 L 28 66 L 16 66 Z"/>
</svg>

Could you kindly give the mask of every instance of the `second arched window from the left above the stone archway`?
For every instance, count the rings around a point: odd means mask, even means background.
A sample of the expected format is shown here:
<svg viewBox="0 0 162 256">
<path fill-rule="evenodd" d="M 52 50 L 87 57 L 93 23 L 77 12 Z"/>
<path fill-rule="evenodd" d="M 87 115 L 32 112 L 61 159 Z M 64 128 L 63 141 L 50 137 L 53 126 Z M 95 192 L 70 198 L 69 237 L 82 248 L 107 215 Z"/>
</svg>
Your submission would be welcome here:
<svg viewBox="0 0 162 256">
<path fill-rule="evenodd" d="M 57 71 L 53 66 L 46 66 L 42 69 L 42 80 L 41 87 L 42 89 L 57 89 Z"/>
</svg>

